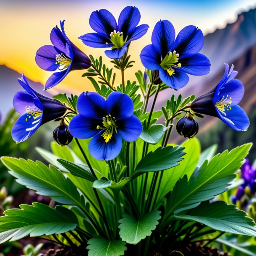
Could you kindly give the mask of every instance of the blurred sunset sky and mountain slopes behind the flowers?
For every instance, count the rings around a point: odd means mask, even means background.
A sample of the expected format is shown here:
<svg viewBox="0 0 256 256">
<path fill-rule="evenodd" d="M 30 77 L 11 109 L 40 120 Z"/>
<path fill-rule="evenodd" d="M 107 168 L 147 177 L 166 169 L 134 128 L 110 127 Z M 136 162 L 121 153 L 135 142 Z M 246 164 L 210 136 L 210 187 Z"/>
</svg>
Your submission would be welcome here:
<svg viewBox="0 0 256 256">
<path fill-rule="evenodd" d="M 1 123 L 12 109 L 13 95 L 20 88 L 17 78 L 24 72 L 30 84 L 42 93 L 43 86 L 50 72 L 43 71 L 35 63 L 35 53 L 39 47 L 51 44 L 50 31 L 59 21 L 65 19 L 65 31 L 68 37 L 87 55 L 102 55 L 104 63 L 112 66 L 110 59 L 104 55 L 104 49 L 85 46 L 79 36 L 92 32 L 89 17 L 92 11 L 106 8 L 118 18 L 127 5 L 135 5 L 141 12 L 140 24 L 149 24 L 147 34 L 131 44 L 131 59 L 134 66 L 127 70 L 125 76 L 134 81 L 138 70 L 144 71 L 139 54 L 142 48 L 150 44 L 154 25 L 160 19 L 167 19 L 175 27 L 176 34 L 187 25 L 198 26 L 204 33 L 205 42 L 201 53 L 209 57 L 211 71 L 206 76 L 191 77 L 185 88 L 179 91 L 168 89 L 160 94 L 157 108 L 165 104 L 166 99 L 175 93 L 184 97 L 190 94 L 199 96 L 212 89 L 222 77 L 224 63 L 234 64 L 239 71 L 238 78 L 245 86 L 245 96 L 241 106 L 248 113 L 251 125 L 248 132 L 236 132 L 222 124 L 217 118 L 206 117 L 199 120 L 199 139 L 205 149 L 213 143 L 219 145 L 218 151 L 231 149 L 256 138 L 256 0 L 0 0 L 0 112 Z M 72 71 L 54 89 L 45 92 L 47 96 L 60 92 L 79 94 L 94 90 L 87 78 L 82 78 L 84 71 Z M 116 70 L 117 85 L 120 74 Z M 14 119 L 16 117 L 13 117 Z M 27 144 L 49 145 L 52 140 L 53 124 L 43 125 Z M 47 126 L 48 125 L 48 126 Z M 51 128 L 49 128 L 49 125 Z M 207 133 L 206 133 L 207 131 Z M 38 140 L 37 140 L 38 138 Z M 173 133 L 171 141 L 179 143 L 177 134 Z M 3 141 L 3 137 L 1 138 Z M 10 144 L 16 146 L 10 138 Z M 44 145 L 42 145 L 44 144 Z M 25 146 L 24 146 L 25 147 Z M 29 148 L 32 148 L 29 146 Z M 33 153 L 26 152 L 26 154 Z M 1 155 L 3 152 L 1 152 Z M 256 147 L 250 155 L 256 158 Z"/>
</svg>

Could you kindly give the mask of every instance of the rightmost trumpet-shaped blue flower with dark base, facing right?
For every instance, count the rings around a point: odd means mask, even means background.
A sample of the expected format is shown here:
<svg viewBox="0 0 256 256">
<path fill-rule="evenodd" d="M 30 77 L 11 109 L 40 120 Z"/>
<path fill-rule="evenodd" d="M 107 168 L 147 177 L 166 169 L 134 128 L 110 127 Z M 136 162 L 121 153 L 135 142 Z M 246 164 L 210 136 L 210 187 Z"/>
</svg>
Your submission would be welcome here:
<svg viewBox="0 0 256 256">
<path fill-rule="evenodd" d="M 243 98 L 243 83 L 234 79 L 237 71 L 225 64 L 225 73 L 219 84 L 208 93 L 198 97 L 191 103 L 194 112 L 212 115 L 222 120 L 235 131 L 246 131 L 250 125 L 246 112 L 238 106 Z"/>
</svg>

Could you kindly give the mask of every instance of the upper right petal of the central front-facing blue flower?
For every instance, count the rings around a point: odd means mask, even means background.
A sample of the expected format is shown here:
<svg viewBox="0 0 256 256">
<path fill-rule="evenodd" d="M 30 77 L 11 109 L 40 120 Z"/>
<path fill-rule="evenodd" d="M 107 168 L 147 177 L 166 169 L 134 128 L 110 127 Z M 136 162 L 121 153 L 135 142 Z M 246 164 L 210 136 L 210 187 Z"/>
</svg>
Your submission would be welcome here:
<svg viewBox="0 0 256 256">
<path fill-rule="evenodd" d="M 116 120 L 130 118 L 134 112 L 132 99 L 119 91 L 113 91 L 107 97 L 108 114 Z"/>
</svg>

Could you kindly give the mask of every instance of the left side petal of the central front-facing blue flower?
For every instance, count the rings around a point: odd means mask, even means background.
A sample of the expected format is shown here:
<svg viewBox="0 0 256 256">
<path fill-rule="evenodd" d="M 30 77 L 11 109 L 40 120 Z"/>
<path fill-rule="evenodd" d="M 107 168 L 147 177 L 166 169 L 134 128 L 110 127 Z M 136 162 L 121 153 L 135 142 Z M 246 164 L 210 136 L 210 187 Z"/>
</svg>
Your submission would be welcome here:
<svg viewBox="0 0 256 256">
<path fill-rule="evenodd" d="M 102 122 L 76 115 L 71 119 L 68 125 L 68 130 L 75 138 L 91 138 L 99 133 L 97 125 L 100 124 L 102 125 Z"/>
</svg>

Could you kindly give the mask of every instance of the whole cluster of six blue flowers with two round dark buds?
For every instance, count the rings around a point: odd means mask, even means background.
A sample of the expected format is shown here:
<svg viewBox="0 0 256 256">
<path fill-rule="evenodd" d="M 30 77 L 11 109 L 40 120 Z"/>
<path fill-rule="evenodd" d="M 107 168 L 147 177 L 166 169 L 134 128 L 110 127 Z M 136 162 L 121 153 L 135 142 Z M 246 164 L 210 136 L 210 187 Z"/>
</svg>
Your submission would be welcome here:
<svg viewBox="0 0 256 256">
<path fill-rule="evenodd" d="M 115 59 L 112 60 L 116 64 L 115 67 L 122 67 L 120 69 L 123 72 L 132 63 L 128 62 L 129 44 L 144 36 L 149 28 L 146 24 L 138 26 L 140 18 L 139 10 L 132 6 L 125 7 L 121 11 L 118 22 L 108 10 L 97 10 L 91 13 L 89 18 L 89 24 L 95 33 L 87 33 L 79 38 L 91 47 L 111 48 L 106 50 L 105 54 Z M 90 69 L 86 74 L 93 76 L 100 72 L 100 69 L 95 69 L 93 57 L 90 59 L 68 39 L 64 31 L 64 21 L 60 21 L 60 29 L 56 26 L 50 33 L 53 45 L 44 45 L 36 53 L 37 65 L 46 71 L 53 71 L 46 81 L 45 89 L 59 84 L 72 70 L 92 67 L 94 70 L 90 71 Z M 140 55 L 147 72 L 151 72 L 150 79 L 146 72 L 142 78 L 145 80 L 145 88 L 148 88 L 144 110 L 141 109 L 143 113 L 152 95 L 150 90 L 153 85 L 158 86 L 159 89 L 163 85 L 180 89 L 188 83 L 188 74 L 201 76 L 209 72 L 209 59 L 199 53 L 203 44 L 202 31 L 195 26 L 186 26 L 175 38 L 175 29 L 170 21 L 157 22 L 152 33 L 152 44 L 144 47 Z M 225 74 L 219 84 L 209 93 L 185 106 L 186 110 L 177 113 L 178 115 L 185 112 L 176 125 L 180 135 L 188 138 L 195 136 L 199 124 L 194 118 L 201 114 L 218 117 L 237 131 L 245 131 L 248 128 L 248 117 L 238 106 L 244 93 L 243 84 L 238 79 L 234 79 L 237 72 L 233 71 L 233 66 L 229 71 L 229 65 L 225 65 Z M 111 76 L 108 69 L 107 72 L 107 76 Z M 101 75 L 101 78 L 105 79 L 104 76 Z M 133 99 L 135 98 L 131 99 L 124 93 L 123 76 L 122 73 L 122 92 L 117 91 L 114 85 L 109 86 L 111 93 L 104 93 L 108 95 L 107 99 L 99 94 L 99 89 L 97 93 L 84 92 L 78 97 L 77 106 L 70 108 L 66 102 L 64 104 L 34 91 L 22 75 L 18 81 L 25 91 L 18 91 L 13 99 L 15 109 L 21 113 L 21 117 L 13 125 L 13 139 L 16 142 L 25 141 L 42 124 L 57 119 L 61 120 L 61 123 L 53 132 L 53 137 L 58 144 L 67 145 L 73 137 L 92 138 L 89 152 L 93 157 L 99 160 L 117 157 L 123 146 L 122 140 L 136 141 L 143 130 L 138 114 L 134 115 Z M 108 77 L 104 82 L 109 79 Z M 145 89 L 141 88 L 141 90 Z M 156 90 L 152 89 L 152 91 Z M 145 128 L 148 129 L 149 125 Z"/>
</svg>

